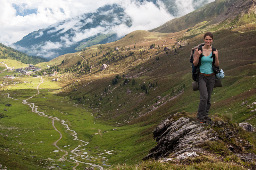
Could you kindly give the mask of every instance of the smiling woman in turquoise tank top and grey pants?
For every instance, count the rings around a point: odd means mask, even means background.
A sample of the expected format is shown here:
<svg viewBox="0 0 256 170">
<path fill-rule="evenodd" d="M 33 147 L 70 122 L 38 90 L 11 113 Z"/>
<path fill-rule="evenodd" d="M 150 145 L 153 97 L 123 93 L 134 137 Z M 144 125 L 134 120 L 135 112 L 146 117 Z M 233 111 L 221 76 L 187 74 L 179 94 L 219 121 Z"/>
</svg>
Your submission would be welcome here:
<svg viewBox="0 0 256 170">
<path fill-rule="evenodd" d="M 212 53 L 215 55 L 215 67 L 219 66 L 218 60 L 218 51 L 212 52 L 211 43 L 213 41 L 213 34 L 211 32 L 207 32 L 203 36 L 203 40 L 205 45 L 202 46 L 202 51 L 196 49 L 195 58 L 194 58 L 194 66 L 197 66 L 199 63 L 199 57 L 202 54 L 201 65 L 200 65 L 200 73 L 197 79 L 199 85 L 200 92 L 200 102 L 198 106 L 197 112 L 197 120 L 200 123 L 205 123 L 206 120 L 211 120 L 209 117 L 209 110 L 211 107 L 211 93 L 213 91 L 213 87 L 215 84 L 215 74 L 212 69 L 213 57 Z"/>
</svg>

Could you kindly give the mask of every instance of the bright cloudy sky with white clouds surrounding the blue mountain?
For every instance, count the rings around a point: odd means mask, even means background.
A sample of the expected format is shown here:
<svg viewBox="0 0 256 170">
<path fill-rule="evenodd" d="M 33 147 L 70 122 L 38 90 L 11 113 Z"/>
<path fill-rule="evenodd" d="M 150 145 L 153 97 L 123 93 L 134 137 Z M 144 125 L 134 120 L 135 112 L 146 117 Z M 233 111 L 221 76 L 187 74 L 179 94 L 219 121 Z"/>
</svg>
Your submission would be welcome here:
<svg viewBox="0 0 256 170">
<path fill-rule="evenodd" d="M 205 4 L 205 2 L 209 3 L 213 0 L 197 1 L 197 4 Z M 138 29 L 150 30 L 159 27 L 165 22 L 176 18 L 167 12 L 166 7 L 161 1 L 157 1 L 157 7 L 152 2 L 144 1 L 138 3 L 138 0 L 0 0 L 0 42 L 5 45 L 11 45 L 33 31 L 46 28 L 56 22 L 67 20 L 84 13 L 95 12 L 99 7 L 105 4 L 114 3 L 119 4 L 125 9 L 127 17 L 132 20 L 131 27 L 127 27 L 125 24 L 121 24 L 118 27 L 111 27 L 110 24 L 107 29 L 99 27 L 79 32 L 77 36 L 74 36 L 72 39 L 63 37 L 65 44 L 54 44 L 55 46 L 53 46 L 51 42 L 46 43 L 45 47 L 42 48 L 45 50 L 44 53 L 48 53 L 48 48 L 68 46 L 80 41 L 81 38 L 96 35 L 99 32 L 109 33 L 112 31 L 122 37 Z M 177 6 L 180 11 L 178 16 L 183 16 L 195 10 L 193 0 L 175 0 L 175 3 L 175 6 Z M 68 22 L 67 25 L 63 25 L 62 27 L 66 29 L 75 24 L 77 24 L 77 21 L 74 20 L 72 23 L 71 20 L 71 22 Z M 37 37 L 40 36 L 42 35 L 38 34 Z M 35 49 L 37 49 L 37 47 L 35 47 Z M 37 53 L 38 52 L 35 52 L 34 54 Z M 43 53 L 41 55 L 44 56 Z"/>
</svg>

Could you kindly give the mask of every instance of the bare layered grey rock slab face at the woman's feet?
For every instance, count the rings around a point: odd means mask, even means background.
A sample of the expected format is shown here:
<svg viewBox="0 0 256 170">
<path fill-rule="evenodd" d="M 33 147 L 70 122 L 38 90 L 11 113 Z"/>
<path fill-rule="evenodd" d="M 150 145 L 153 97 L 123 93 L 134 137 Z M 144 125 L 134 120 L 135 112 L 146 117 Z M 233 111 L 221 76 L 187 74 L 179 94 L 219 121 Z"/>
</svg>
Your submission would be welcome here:
<svg viewBox="0 0 256 170">
<path fill-rule="evenodd" d="M 182 113 L 168 116 L 153 130 L 153 137 L 158 144 L 143 159 L 166 157 L 170 152 L 180 154 L 187 151 L 184 148 L 192 149 L 206 140 L 218 140 L 217 133 L 208 127 L 211 124 L 214 122 L 201 124 L 195 118 L 182 117 Z"/>
</svg>

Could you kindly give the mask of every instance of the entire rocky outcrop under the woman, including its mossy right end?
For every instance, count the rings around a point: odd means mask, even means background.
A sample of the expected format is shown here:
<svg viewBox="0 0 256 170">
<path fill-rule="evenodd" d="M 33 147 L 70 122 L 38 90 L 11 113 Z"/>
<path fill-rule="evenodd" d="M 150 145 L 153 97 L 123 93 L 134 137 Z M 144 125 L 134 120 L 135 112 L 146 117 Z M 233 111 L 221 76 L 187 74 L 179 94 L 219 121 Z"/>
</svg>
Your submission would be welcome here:
<svg viewBox="0 0 256 170">
<path fill-rule="evenodd" d="M 237 154 L 241 150 L 252 148 L 250 142 L 238 137 L 239 130 L 229 121 L 207 121 L 207 123 L 199 123 L 194 117 L 187 117 L 185 112 L 179 112 L 168 116 L 162 120 L 159 125 L 153 130 L 153 137 L 157 145 L 151 149 L 147 156 L 149 158 L 164 158 L 170 153 L 173 155 L 186 157 L 194 155 L 193 152 L 202 152 L 201 146 L 206 141 L 223 140 L 227 143 L 230 150 L 236 151 Z M 235 139 L 242 148 L 231 146 L 227 141 Z"/>
</svg>

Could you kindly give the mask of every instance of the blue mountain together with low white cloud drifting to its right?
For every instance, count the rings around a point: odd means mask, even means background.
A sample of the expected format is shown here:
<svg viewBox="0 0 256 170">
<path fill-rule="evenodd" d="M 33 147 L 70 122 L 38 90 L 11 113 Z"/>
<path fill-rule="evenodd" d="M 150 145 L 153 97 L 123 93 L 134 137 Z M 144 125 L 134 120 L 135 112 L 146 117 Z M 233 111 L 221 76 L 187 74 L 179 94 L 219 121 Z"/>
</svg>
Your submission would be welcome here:
<svg viewBox="0 0 256 170">
<path fill-rule="evenodd" d="M 102 44 L 116 41 L 134 30 L 153 29 L 210 1 L 112 1 L 112 4 L 106 4 L 95 12 L 78 15 L 32 32 L 11 46 L 29 55 L 51 59 L 75 52 L 74 49 L 80 43 L 87 43 L 88 46 Z"/>
</svg>

